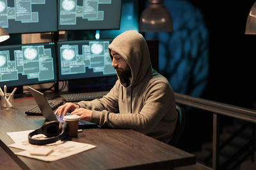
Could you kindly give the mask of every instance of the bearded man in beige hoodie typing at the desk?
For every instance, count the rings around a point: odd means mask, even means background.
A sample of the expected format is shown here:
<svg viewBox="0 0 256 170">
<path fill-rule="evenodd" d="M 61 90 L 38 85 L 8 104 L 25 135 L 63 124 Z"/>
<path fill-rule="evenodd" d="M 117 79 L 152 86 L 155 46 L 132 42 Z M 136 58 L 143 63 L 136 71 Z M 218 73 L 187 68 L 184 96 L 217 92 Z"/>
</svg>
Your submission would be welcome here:
<svg viewBox="0 0 256 170">
<path fill-rule="evenodd" d="M 168 80 L 152 69 L 145 39 L 137 31 L 126 31 L 108 48 L 118 76 L 114 87 L 101 99 L 66 103 L 55 114 L 72 111 L 82 120 L 134 129 L 168 143 L 177 121 L 175 96 Z"/>
</svg>

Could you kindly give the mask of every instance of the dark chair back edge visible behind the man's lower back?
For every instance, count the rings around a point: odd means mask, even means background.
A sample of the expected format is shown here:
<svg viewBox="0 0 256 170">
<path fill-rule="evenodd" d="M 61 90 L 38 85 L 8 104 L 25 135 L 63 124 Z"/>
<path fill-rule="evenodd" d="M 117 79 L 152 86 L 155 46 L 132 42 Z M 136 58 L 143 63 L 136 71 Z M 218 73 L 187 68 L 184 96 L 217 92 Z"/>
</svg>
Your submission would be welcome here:
<svg viewBox="0 0 256 170">
<path fill-rule="evenodd" d="M 176 105 L 176 111 L 178 113 L 177 123 L 173 132 L 172 139 L 169 143 L 172 146 L 176 146 L 179 142 L 180 136 L 182 135 L 186 124 L 185 110 L 180 106 Z"/>
</svg>

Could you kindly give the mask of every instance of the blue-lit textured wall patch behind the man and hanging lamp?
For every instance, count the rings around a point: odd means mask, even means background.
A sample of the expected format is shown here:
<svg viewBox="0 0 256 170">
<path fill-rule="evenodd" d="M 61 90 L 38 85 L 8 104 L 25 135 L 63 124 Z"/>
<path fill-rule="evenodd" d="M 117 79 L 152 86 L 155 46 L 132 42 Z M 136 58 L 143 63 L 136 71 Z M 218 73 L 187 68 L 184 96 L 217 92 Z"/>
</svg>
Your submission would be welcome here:
<svg viewBox="0 0 256 170">
<path fill-rule="evenodd" d="M 175 92 L 200 97 L 207 85 L 209 36 L 198 8 L 188 1 L 164 1 L 173 19 L 173 32 L 146 32 L 159 40 L 159 72 Z"/>
</svg>

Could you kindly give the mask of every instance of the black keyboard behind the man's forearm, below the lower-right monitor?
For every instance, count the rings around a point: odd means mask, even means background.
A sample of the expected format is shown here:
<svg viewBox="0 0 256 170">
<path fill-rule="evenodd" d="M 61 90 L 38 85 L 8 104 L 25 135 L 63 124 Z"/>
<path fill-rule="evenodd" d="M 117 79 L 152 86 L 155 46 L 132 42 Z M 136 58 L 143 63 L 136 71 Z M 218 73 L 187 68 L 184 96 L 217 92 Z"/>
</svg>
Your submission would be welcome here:
<svg viewBox="0 0 256 170">
<path fill-rule="evenodd" d="M 60 97 L 62 97 L 65 101 L 90 101 L 93 99 L 99 99 L 106 94 L 108 94 L 109 91 L 99 91 L 99 92 L 83 92 L 83 93 L 73 93 L 73 94 L 61 94 Z"/>
</svg>

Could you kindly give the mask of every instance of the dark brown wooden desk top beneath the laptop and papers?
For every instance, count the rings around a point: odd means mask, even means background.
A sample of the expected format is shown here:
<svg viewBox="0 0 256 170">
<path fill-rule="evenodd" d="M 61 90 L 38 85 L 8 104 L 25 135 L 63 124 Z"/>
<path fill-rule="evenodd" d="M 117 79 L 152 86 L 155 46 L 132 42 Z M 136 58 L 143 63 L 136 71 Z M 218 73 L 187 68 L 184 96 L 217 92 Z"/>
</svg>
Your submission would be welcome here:
<svg viewBox="0 0 256 170">
<path fill-rule="evenodd" d="M 42 126 L 44 117 L 24 113 L 35 104 L 31 97 L 16 99 L 15 109 L 0 110 L 0 139 L 5 145 L 13 143 L 6 132 L 27 131 Z M 30 169 L 170 169 L 196 162 L 195 156 L 190 153 L 129 129 L 83 129 L 72 141 L 89 143 L 97 148 L 54 162 L 21 156 L 19 159 Z"/>
</svg>

